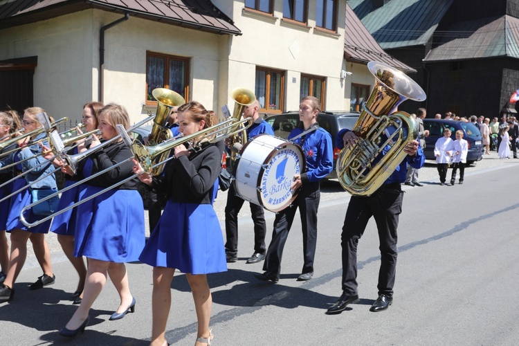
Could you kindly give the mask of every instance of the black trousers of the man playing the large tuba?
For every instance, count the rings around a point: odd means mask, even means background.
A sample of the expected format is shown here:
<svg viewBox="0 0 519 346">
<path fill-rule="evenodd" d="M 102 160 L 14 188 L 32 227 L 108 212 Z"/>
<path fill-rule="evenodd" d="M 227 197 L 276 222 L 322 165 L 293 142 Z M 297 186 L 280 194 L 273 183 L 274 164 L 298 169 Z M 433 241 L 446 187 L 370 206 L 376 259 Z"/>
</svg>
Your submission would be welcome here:
<svg viewBox="0 0 519 346">
<path fill-rule="evenodd" d="M 357 245 L 367 225 L 374 217 L 379 231 L 381 266 L 379 295 L 392 297 L 397 269 L 397 228 L 402 212 L 403 192 L 400 184 L 382 185 L 368 197 L 353 196 L 344 219 L 341 245 L 343 247 L 343 291 L 357 293 Z"/>
</svg>

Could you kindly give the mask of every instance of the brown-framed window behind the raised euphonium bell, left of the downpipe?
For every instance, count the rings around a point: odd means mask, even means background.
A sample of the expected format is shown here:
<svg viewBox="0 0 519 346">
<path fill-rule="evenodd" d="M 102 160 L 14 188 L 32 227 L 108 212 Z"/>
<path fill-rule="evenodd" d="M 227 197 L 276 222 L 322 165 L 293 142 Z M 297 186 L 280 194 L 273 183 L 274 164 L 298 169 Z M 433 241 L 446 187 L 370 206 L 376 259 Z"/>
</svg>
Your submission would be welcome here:
<svg viewBox="0 0 519 346">
<path fill-rule="evenodd" d="M 146 53 L 146 103 L 156 102 L 155 88 L 166 88 L 189 99 L 189 58 Z"/>
</svg>

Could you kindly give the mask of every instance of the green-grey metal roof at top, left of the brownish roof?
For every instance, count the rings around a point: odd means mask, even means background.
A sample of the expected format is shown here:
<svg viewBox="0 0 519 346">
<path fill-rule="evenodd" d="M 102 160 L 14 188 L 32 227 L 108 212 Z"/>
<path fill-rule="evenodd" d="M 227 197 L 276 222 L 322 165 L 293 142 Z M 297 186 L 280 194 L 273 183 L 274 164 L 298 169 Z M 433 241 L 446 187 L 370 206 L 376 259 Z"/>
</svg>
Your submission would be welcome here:
<svg viewBox="0 0 519 346">
<path fill-rule="evenodd" d="M 371 0 L 349 1 L 354 12 L 382 48 L 428 43 L 454 0 L 391 0 L 373 10 Z M 366 13 L 368 10 L 372 12 Z"/>
</svg>

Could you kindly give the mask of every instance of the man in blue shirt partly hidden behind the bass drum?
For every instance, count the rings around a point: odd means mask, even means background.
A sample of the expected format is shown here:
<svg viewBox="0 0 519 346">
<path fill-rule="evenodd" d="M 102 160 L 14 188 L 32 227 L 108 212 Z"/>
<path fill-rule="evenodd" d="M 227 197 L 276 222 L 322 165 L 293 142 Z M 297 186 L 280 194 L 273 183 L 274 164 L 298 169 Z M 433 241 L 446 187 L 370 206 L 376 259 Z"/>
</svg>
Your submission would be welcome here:
<svg viewBox="0 0 519 346">
<path fill-rule="evenodd" d="M 252 118 L 253 125 L 248 127 L 247 140 L 250 141 L 253 137 L 259 134 L 270 134 L 274 136 L 274 130 L 271 125 L 260 117 L 258 113 L 260 109 L 260 102 L 256 100 L 250 106 L 244 107 L 244 118 Z M 265 214 L 262 206 L 255 203 L 249 203 L 251 206 L 251 217 L 254 221 L 254 253 L 247 260 L 248 264 L 261 262 L 265 258 L 266 246 L 266 223 Z M 230 185 L 227 194 L 226 205 L 226 259 L 227 262 L 236 262 L 238 255 L 238 213 L 244 205 L 244 200 L 236 194 L 234 184 Z"/>
</svg>

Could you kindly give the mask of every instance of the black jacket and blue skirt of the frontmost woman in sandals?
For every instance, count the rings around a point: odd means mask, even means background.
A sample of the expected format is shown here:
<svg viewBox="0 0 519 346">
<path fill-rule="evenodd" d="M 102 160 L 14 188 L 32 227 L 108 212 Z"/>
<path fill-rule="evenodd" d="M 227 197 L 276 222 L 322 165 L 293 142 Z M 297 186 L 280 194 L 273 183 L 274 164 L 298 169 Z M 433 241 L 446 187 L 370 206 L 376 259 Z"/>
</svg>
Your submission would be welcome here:
<svg viewBox="0 0 519 346">
<path fill-rule="evenodd" d="M 209 146 L 168 163 L 168 170 L 174 166 L 167 173 L 172 196 L 139 257 L 142 262 L 192 275 L 227 271 L 224 238 L 212 208 L 220 157 L 218 149 Z M 190 192 L 196 186 L 197 194 Z"/>
</svg>

